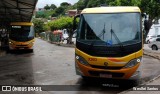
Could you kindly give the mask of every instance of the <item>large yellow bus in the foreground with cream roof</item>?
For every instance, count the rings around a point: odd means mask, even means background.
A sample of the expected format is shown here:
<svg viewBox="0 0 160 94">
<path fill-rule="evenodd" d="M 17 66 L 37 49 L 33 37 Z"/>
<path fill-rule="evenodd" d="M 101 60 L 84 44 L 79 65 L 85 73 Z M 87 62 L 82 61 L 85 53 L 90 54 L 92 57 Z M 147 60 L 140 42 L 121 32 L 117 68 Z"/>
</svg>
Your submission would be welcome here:
<svg viewBox="0 0 160 94">
<path fill-rule="evenodd" d="M 79 17 L 75 48 L 77 74 L 84 78 L 140 77 L 143 42 L 138 7 L 86 8 Z"/>
</svg>

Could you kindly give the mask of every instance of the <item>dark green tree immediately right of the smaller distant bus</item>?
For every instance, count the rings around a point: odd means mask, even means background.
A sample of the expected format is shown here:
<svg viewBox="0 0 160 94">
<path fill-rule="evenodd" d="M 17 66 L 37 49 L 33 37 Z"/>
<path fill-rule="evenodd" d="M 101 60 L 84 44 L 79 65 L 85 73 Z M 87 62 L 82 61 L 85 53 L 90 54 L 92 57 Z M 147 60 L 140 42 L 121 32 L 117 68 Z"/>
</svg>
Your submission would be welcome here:
<svg viewBox="0 0 160 94">
<path fill-rule="evenodd" d="M 33 24 L 35 27 L 35 32 L 39 35 L 41 32 L 44 31 L 44 22 L 41 19 L 33 19 Z"/>
</svg>

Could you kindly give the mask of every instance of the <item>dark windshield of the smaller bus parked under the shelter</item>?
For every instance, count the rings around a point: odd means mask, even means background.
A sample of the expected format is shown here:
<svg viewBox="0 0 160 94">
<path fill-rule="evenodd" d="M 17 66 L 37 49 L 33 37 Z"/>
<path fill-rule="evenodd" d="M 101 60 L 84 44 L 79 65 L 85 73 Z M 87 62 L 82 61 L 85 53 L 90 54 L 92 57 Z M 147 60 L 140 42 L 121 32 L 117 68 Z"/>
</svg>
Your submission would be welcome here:
<svg viewBox="0 0 160 94">
<path fill-rule="evenodd" d="M 10 38 L 15 41 L 28 41 L 33 39 L 33 26 L 11 26 Z"/>
</svg>

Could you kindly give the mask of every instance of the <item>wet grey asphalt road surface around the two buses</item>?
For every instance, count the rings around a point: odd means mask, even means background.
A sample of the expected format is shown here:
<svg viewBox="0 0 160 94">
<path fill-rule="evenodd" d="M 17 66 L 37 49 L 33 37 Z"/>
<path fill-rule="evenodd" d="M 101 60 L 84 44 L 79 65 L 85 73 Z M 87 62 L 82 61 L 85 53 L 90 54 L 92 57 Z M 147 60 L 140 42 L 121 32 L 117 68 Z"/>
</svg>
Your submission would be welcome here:
<svg viewBox="0 0 160 94">
<path fill-rule="evenodd" d="M 145 83 L 160 75 L 160 61 L 147 56 L 144 56 L 143 61 L 141 82 Z M 61 47 L 36 39 L 33 53 L 12 52 L 0 57 L 0 85 L 79 86 L 79 91 L 30 92 L 31 94 L 115 94 L 135 86 L 135 81 L 110 79 L 84 81 L 75 74 L 74 48 Z M 85 89 L 82 89 L 83 87 Z"/>
</svg>

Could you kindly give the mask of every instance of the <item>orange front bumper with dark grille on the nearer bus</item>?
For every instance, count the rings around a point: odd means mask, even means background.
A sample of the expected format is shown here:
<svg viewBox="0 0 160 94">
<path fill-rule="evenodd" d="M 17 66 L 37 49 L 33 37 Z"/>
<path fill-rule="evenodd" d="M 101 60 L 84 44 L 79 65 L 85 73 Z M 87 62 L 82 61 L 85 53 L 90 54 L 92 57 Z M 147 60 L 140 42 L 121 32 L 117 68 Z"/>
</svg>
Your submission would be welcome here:
<svg viewBox="0 0 160 94">
<path fill-rule="evenodd" d="M 91 66 L 76 62 L 76 73 L 87 77 L 113 78 L 113 79 L 129 79 L 135 77 L 139 73 L 138 67 L 140 63 L 131 68 L 122 68 L 118 70 L 92 68 Z"/>
</svg>

